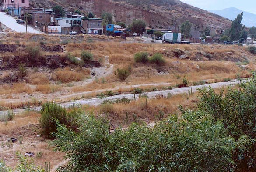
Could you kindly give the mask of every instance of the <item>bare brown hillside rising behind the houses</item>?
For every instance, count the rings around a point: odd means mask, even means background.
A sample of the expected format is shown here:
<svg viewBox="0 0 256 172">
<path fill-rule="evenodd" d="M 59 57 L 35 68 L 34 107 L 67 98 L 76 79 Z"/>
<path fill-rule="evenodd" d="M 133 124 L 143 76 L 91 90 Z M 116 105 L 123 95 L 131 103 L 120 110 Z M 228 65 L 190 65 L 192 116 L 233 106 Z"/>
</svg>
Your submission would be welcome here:
<svg viewBox="0 0 256 172">
<path fill-rule="evenodd" d="M 32 7 L 53 7 L 60 5 L 67 10 L 80 9 L 84 13 L 93 12 L 100 17 L 102 11 L 113 13 L 115 21 L 131 24 L 133 19 L 142 19 L 147 26 L 170 28 L 176 23 L 181 25 L 189 20 L 196 30 L 203 26 L 219 29 L 226 28 L 231 22 L 206 10 L 190 6 L 179 0 L 31 0 Z"/>
</svg>

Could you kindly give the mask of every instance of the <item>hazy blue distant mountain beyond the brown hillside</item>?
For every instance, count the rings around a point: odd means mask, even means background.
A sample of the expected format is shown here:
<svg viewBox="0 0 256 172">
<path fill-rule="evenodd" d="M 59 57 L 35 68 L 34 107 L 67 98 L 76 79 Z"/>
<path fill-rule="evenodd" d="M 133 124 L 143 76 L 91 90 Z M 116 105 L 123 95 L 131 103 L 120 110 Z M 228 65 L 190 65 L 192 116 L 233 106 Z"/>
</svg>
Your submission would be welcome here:
<svg viewBox="0 0 256 172">
<path fill-rule="evenodd" d="M 224 10 L 210 11 L 210 12 L 220 15 L 222 17 L 228 18 L 230 20 L 235 20 L 235 18 L 239 13 L 244 12 L 242 23 L 246 27 L 252 27 L 252 26 L 256 27 L 256 14 L 253 14 L 253 13 L 248 13 L 246 11 L 242 11 L 234 7 L 226 8 Z"/>
</svg>

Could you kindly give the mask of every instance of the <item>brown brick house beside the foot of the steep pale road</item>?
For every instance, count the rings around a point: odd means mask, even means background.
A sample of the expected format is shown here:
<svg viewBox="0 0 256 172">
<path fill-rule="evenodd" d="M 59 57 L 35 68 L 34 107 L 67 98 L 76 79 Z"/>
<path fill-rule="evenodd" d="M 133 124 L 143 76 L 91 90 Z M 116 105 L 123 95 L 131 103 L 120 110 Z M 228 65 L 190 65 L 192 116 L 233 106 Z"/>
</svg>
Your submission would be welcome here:
<svg viewBox="0 0 256 172">
<path fill-rule="evenodd" d="M 30 13 L 32 15 L 31 24 L 37 27 L 48 25 L 50 22 L 53 22 L 54 13 L 44 12 L 44 11 L 35 11 Z"/>
</svg>

